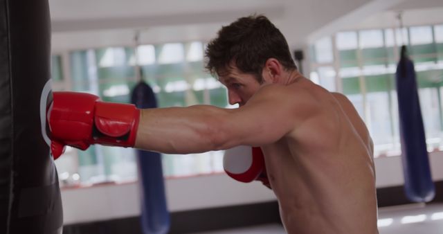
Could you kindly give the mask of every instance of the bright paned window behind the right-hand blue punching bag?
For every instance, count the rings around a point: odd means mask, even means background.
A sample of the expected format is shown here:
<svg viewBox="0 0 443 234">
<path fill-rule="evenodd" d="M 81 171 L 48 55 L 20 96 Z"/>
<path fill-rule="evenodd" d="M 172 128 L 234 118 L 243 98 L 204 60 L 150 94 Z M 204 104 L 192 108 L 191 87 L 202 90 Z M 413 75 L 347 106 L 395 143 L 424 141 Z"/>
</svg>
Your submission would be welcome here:
<svg viewBox="0 0 443 234">
<path fill-rule="evenodd" d="M 319 39 L 311 46 L 314 52 L 320 50 L 321 45 L 329 49 L 328 43 L 336 48 L 331 50 L 332 55 L 315 53 L 311 80 L 326 89 L 335 88 L 350 99 L 368 126 L 375 156 L 399 155 L 401 152 L 395 91 L 401 45 L 408 46 L 415 62 L 428 148 L 443 148 L 442 24 L 346 31 L 329 38 L 332 39 Z M 321 61 L 328 64 L 320 64 Z"/>
</svg>

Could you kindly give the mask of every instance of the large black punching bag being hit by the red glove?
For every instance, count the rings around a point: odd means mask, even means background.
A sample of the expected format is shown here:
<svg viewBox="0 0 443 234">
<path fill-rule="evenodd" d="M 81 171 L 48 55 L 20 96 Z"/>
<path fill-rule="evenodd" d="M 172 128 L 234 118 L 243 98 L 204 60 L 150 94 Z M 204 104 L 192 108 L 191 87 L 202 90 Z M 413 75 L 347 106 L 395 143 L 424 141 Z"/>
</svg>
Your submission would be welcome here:
<svg viewBox="0 0 443 234">
<path fill-rule="evenodd" d="M 0 0 L 2 234 L 62 233 L 57 171 L 42 134 L 51 99 L 50 24 L 47 0 Z"/>
</svg>

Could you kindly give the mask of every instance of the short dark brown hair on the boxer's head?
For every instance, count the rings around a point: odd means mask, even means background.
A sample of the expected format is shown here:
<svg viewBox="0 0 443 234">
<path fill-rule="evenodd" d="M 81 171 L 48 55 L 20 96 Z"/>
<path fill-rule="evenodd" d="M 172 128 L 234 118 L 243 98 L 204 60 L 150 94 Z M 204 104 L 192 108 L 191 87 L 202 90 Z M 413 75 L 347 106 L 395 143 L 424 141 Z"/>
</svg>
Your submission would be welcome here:
<svg viewBox="0 0 443 234">
<path fill-rule="evenodd" d="M 297 69 L 286 39 L 268 18 L 251 15 L 222 27 L 206 48 L 206 69 L 220 75 L 231 68 L 233 62 L 243 73 L 255 75 L 262 82 L 262 69 L 273 57 L 285 69 Z"/>
</svg>

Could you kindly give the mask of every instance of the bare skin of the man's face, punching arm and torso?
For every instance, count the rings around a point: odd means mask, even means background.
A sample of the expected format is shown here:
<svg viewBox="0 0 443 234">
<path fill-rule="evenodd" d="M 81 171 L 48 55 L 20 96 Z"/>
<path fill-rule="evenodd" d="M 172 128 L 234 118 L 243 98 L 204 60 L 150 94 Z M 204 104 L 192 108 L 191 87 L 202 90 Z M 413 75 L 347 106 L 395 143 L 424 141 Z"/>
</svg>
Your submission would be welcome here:
<svg viewBox="0 0 443 234">
<path fill-rule="evenodd" d="M 288 233 L 378 233 L 372 140 L 351 102 L 273 58 L 262 83 L 230 67 L 219 80 L 239 108 L 145 109 L 136 147 L 186 154 L 260 146 Z"/>
</svg>

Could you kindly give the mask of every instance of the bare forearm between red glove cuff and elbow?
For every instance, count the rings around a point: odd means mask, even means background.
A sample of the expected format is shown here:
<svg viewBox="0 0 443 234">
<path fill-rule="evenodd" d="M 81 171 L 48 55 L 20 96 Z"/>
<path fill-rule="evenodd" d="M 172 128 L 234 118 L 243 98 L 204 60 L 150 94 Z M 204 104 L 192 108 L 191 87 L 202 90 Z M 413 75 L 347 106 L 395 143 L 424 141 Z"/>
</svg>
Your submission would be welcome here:
<svg viewBox="0 0 443 234">
<path fill-rule="evenodd" d="M 228 139 L 229 111 L 209 105 L 143 109 L 134 147 L 168 154 L 219 150 Z"/>
</svg>

